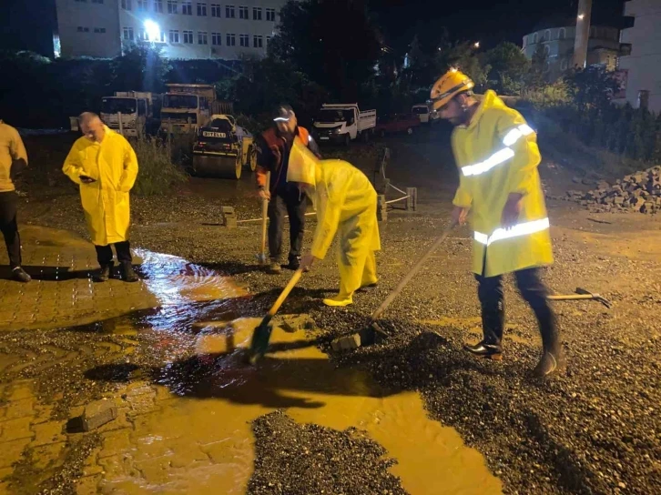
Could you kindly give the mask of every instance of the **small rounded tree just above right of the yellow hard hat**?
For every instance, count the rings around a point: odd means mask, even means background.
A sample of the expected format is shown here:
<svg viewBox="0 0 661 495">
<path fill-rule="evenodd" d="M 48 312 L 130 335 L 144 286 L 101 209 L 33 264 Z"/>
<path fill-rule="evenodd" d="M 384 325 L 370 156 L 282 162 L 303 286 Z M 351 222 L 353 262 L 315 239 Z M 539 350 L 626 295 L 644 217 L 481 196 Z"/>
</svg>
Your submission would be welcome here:
<svg viewBox="0 0 661 495">
<path fill-rule="evenodd" d="M 530 62 L 519 46 L 503 42 L 483 55 L 483 65 L 489 66 L 488 84 L 499 93 L 518 95 L 524 86 L 524 76 Z"/>
</svg>

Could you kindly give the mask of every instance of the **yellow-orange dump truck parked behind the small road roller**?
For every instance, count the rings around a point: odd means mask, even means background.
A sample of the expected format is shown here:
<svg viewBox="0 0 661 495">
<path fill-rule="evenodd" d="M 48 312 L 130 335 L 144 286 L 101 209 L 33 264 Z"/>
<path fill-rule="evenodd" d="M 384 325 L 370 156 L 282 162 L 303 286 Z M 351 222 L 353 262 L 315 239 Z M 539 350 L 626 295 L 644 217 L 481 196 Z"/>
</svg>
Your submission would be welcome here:
<svg viewBox="0 0 661 495">
<path fill-rule="evenodd" d="M 160 130 L 162 134 L 197 132 L 213 114 L 230 114 L 232 104 L 216 99 L 213 85 L 167 84 L 163 95 Z"/>
</svg>

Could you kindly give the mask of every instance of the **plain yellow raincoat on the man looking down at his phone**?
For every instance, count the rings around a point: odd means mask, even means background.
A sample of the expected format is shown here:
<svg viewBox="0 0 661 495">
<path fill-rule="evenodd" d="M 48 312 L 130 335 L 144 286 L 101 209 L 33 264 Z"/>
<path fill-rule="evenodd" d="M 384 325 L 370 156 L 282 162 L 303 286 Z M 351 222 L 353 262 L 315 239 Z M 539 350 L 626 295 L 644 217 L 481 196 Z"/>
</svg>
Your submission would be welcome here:
<svg viewBox="0 0 661 495">
<path fill-rule="evenodd" d="M 80 186 L 80 200 L 92 242 L 107 246 L 127 240 L 128 191 L 136 182 L 137 157 L 126 138 L 106 127 L 101 143 L 85 136 L 74 143 L 62 171 Z M 80 176 L 96 179 L 84 184 Z"/>
</svg>

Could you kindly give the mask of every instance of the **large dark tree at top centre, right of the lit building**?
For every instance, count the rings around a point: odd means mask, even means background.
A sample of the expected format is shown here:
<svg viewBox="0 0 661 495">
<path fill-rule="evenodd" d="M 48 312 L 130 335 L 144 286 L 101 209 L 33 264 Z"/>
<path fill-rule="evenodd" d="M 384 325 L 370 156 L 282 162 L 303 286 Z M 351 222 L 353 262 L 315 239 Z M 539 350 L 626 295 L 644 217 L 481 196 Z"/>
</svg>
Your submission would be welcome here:
<svg viewBox="0 0 661 495">
<path fill-rule="evenodd" d="M 356 101 L 382 53 L 365 1 L 290 0 L 280 19 L 269 55 L 327 87 L 332 96 Z"/>
</svg>

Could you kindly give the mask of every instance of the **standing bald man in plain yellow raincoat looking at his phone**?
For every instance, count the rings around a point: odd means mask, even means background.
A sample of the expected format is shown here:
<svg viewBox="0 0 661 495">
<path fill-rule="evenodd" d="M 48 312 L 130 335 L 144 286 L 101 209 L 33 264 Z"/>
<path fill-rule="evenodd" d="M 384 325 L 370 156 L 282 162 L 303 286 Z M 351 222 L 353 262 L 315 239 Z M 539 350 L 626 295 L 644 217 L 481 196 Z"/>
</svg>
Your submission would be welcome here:
<svg viewBox="0 0 661 495">
<path fill-rule="evenodd" d="M 124 136 L 105 126 L 96 114 L 82 114 L 79 123 L 84 136 L 74 143 L 62 171 L 80 186 L 87 228 L 101 267 L 94 280 L 105 282 L 112 277 L 111 245 L 115 245 L 122 278 L 136 282 L 127 239 L 128 191 L 136 182 L 136 153 Z"/>
</svg>

